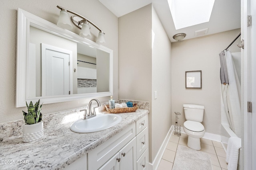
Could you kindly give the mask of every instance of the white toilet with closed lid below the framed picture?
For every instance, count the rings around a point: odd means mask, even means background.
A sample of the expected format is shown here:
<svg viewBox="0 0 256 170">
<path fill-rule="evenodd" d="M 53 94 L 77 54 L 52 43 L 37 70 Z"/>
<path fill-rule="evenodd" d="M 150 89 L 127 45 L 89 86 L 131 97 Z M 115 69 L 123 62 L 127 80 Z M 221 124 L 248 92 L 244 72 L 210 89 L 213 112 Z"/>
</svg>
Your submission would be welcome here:
<svg viewBox="0 0 256 170">
<path fill-rule="evenodd" d="M 184 131 L 188 135 L 188 147 L 201 150 L 200 138 L 204 136 L 205 130 L 202 125 L 204 117 L 204 106 L 196 104 L 183 104 L 186 121 L 183 123 Z"/>
</svg>

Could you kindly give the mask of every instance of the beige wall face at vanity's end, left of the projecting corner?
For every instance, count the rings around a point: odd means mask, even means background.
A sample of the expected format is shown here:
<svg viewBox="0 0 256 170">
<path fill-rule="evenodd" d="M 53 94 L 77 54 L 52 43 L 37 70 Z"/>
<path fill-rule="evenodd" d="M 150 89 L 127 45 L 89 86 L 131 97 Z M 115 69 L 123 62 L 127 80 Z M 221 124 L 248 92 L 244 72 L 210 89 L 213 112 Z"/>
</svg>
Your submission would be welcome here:
<svg viewBox="0 0 256 170">
<path fill-rule="evenodd" d="M 118 94 L 120 99 L 150 102 L 149 145 L 152 145 L 152 7 L 118 18 Z M 149 147 L 150 161 L 152 147 Z"/>
</svg>

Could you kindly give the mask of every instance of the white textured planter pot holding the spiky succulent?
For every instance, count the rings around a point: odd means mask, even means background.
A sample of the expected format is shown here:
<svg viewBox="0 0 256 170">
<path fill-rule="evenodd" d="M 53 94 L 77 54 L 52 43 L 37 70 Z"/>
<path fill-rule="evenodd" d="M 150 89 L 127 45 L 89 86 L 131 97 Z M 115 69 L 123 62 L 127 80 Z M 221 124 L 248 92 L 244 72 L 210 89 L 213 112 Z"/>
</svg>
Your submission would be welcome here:
<svg viewBox="0 0 256 170">
<path fill-rule="evenodd" d="M 36 141 L 44 136 L 44 123 L 40 121 L 32 125 L 23 125 L 23 142 Z"/>
</svg>

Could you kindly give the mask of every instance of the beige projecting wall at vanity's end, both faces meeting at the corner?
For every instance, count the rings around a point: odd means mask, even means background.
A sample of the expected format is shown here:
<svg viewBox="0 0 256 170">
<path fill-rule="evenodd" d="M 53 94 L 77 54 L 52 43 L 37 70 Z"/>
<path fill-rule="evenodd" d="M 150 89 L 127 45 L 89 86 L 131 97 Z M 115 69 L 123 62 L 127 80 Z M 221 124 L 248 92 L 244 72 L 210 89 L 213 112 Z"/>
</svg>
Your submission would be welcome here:
<svg viewBox="0 0 256 170">
<path fill-rule="evenodd" d="M 150 102 L 153 162 L 171 127 L 171 43 L 151 4 L 118 18 L 118 31 L 119 98 Z"/>
</svg>

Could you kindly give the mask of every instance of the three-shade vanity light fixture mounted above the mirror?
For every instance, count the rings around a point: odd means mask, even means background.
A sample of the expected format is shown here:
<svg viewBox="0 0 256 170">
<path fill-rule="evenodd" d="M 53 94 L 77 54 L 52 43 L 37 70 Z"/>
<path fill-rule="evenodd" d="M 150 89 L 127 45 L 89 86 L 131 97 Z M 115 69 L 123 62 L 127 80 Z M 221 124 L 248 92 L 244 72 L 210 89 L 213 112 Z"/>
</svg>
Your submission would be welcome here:
<svg viewBox="0 0 256 170">
<path fill-rule="evenodd" d="M 105 43 L 105 37 L 104 37 L 104 32 L 98 27 L 96 26 L 94 23 L 92 23 L 92 21 L 86 19 L 85 17 L 81 16 L 80 14 L 77 14 L 76 12 L 70 11 L 66 8 L 63 8 L 61 6 L 57 6 L 57 8 L 59 8 L 60 11 L 60 18 L 58 20 L 57 25 L 59 27 L 62 27 L 63 29 L 72 29 L 72 24 L 70 22 L 70 18 L 68 16 L 68 12 L 71 14 L 74 14 L 74 16 L 71 17 L 71 21 L 72 23 L 74 23 L 74 25 L 76 25 L 76 27 L 78 27 L 79 29 L 81 29 L 80 31 L 80 36 L 81 37 L 91 37 L 91 32 L 90 32 L 90 25 L 89 23 L 96 27 L 100 32 L 97 38 L 97 43 Z"/>
</svg>

